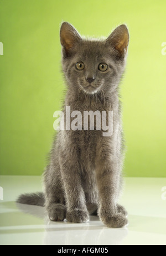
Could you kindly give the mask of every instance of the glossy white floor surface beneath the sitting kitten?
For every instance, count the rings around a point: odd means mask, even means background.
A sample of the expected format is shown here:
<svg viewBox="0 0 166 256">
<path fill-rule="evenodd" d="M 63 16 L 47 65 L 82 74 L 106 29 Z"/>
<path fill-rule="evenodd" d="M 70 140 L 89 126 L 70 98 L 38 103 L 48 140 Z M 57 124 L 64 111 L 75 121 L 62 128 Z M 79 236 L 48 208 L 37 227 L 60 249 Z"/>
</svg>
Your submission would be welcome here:
<svg viewBox="0 0 166 256">
<path fill-rule="evenodd" d="M 42 191 L 40 177 L 0 176 L 0 186 L 1 245 L 166 244 L 166 179 L 126 178 L 121 204 L 128 210 L 129 226 L 123 229 L 107 228 L 97 216 L 86 224 L 53 223 L 42 207 L 15 204 L 20 193 Z"/>
</svg>

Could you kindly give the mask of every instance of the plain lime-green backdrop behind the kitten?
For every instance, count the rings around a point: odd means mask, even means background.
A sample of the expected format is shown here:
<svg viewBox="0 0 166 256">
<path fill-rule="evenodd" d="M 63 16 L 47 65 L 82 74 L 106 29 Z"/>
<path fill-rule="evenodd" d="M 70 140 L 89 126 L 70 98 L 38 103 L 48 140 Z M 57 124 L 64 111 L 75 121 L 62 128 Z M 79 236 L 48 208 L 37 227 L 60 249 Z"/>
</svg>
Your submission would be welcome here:
<svg viewBox="0 0 166 256">
<path fill-rule="evenodd" d="M 60 109 L 62 21 L 82 35 L 131 35 L 122 82 L 127 176 L 166 176 L 166 1 L 0 0 L 0 173 L 40 175 Z"/>
</svg>

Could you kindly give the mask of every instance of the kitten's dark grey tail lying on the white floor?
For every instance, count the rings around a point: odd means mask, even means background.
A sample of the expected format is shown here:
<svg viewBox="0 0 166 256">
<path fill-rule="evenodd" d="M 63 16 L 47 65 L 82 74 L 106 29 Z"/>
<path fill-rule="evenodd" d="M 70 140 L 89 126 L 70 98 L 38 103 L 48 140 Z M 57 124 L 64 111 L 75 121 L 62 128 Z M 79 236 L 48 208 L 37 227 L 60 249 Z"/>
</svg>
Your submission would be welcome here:
<svg viewBox="0 0 166 256">
<path fill-rule="evenodd" d="M 17 203 L 44 206 L 45 196 L 44 196 L 44 193 L 42 192 L 35 193 L 35 194 L 23 194 L 19 196 L 19 198 L 17 199 Z"/>
</svg>

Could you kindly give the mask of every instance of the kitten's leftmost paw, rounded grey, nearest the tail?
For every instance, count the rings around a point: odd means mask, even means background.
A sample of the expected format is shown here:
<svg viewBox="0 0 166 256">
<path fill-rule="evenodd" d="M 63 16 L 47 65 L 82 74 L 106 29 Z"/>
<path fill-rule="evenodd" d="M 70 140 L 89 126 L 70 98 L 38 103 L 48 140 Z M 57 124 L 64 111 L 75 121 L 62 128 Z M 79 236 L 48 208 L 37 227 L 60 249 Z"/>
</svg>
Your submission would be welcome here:
<svg viewBox="0 0 166 256">
<path fill-rule="evenodd" d="M 48 215 L 51 221 L 63 221 L 66 218 L 66 206 L 63 204 L 51 205 L 48 209 Z"/>
</svg>

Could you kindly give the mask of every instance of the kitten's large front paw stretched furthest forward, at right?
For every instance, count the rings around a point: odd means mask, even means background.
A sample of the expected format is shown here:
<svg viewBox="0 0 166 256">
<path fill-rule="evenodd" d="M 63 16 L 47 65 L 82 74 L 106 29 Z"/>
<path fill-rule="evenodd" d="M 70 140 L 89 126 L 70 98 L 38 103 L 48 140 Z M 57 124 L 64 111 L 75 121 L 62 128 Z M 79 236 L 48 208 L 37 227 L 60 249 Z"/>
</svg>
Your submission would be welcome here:
<svg viewBox="0 0 166 256">
<path fill-rule="evenodd" d="M 100 215 L 100 219 L 108 228 L 123 228 L 128 224 L 127 218 L 121 213 L 115 215 Z"/>
</svg>

